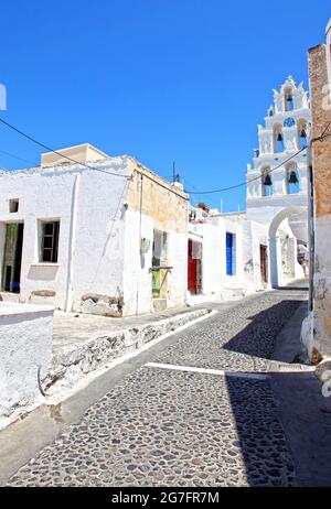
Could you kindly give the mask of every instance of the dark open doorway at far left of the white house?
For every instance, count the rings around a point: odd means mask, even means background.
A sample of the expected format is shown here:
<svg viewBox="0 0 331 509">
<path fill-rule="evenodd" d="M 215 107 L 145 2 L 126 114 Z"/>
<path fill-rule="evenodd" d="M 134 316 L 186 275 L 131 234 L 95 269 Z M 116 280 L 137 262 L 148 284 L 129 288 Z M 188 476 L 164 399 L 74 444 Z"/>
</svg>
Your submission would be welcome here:
<svg viewBox="0 0 331 509">
<path fill-rule="evenodd" d="M 20 293 L 23 230 L 23 223 L 10 223 L 6 225 L 1 283 L 1 290 L 4 292 Z"/>
</svg>

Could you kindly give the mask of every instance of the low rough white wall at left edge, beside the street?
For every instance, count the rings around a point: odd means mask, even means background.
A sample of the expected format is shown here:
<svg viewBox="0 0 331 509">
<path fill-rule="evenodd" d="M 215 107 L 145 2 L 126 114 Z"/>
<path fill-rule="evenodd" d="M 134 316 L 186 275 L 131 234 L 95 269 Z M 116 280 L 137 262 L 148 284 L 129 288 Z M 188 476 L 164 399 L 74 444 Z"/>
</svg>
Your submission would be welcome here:
<svg viewBox="0 0 331 509">
<path fill-rule="evenodd" d="M 43 401 L 52 324 L 52 307 L 0 304 L 0 429 Z"/>
</svg>

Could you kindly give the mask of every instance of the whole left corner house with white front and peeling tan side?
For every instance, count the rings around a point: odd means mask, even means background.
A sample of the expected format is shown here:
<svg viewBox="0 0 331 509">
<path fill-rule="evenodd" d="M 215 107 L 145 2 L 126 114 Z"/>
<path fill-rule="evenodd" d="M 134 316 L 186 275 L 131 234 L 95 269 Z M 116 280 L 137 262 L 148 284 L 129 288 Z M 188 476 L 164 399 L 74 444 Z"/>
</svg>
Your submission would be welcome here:
<svg viewBox="0 0 331 509">
<path fill-rule="evenodd" d="M 183 305 L 186 242 L 188 196 L 132 158 L 83 144 L 0 173 L 4 301 L 109 316 Z"/>
</svg>

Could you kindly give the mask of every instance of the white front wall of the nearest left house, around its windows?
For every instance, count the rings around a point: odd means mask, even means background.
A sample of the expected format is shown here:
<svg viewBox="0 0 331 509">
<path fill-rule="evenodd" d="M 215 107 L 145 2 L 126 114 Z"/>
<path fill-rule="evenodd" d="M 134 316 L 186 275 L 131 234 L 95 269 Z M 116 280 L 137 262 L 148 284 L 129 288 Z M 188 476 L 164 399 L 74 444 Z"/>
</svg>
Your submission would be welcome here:
<svg viewBox="0 0 331 509">
<path fill-rule="evenodd" d="M 82 295 L 122 292 L 126 158 L 0 173 L 0 267 L 6 223 L 24 223 L 20 302 L 79 311 Z M 102 170 L 103 172 L 98 171 Z M 9 199 L 19 212 L 9 213 Z M 40 220 L 60 220 L 57 263 L 40 263 Z M 33 296 L 50 290 L 54 297 Z"/>
</svg>

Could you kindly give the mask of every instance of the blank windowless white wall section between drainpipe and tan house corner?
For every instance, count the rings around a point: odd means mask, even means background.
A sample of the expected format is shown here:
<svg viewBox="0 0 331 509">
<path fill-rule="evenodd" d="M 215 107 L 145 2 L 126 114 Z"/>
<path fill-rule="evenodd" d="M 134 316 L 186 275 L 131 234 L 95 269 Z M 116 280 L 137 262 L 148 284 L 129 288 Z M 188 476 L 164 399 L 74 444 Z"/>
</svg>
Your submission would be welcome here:
<svg viewBox="0 0 331 509">
<path fill-rule="evenodd" d="M 126 174 L 125 159 L 99 165 Z M 86 293 L 120 296 L 124 293 L 125 220 L 127 180 L 84 171 L 78 187 L 76 225 L 73 231 L 73 268 L 68 308 L 79 310 Z M 70 259 L 70 254 L 68 254 Z"/>
</svg>

